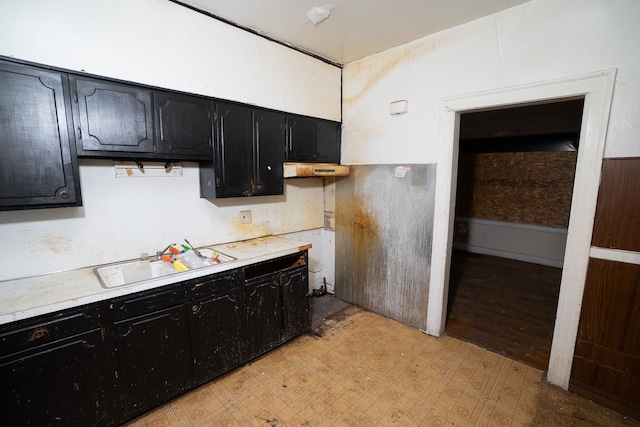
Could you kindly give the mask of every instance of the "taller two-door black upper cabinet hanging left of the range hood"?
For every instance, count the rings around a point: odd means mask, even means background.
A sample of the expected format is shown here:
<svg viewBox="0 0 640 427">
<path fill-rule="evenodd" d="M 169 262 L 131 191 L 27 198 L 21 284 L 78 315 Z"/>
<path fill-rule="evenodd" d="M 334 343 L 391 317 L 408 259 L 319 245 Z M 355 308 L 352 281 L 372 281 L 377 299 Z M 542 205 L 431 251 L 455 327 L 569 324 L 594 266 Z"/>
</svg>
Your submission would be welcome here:
<svg viewBox="0 0 640 427">
<path fill-rule="evenodd" d="M 285 116 L 216 103 L 215 122 L 214 160 L 200 164 L 201 196 L 283 194 Z"/>
</svg>

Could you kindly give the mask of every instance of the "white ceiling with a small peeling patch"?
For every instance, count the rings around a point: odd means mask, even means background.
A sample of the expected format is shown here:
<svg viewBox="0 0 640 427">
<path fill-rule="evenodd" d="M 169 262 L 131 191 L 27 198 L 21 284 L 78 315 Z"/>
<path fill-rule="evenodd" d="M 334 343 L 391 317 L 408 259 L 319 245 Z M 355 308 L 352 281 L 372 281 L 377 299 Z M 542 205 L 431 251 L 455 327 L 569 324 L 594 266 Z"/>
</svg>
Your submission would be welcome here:
<svg viewBox="0 0 640 427">
<path fill-rule="evenodd" d="M 529 0 L 178 0 L 274 40 L 346 64 Z M 314 24 L 306 13 L 333 6 Z"/>
</svg>

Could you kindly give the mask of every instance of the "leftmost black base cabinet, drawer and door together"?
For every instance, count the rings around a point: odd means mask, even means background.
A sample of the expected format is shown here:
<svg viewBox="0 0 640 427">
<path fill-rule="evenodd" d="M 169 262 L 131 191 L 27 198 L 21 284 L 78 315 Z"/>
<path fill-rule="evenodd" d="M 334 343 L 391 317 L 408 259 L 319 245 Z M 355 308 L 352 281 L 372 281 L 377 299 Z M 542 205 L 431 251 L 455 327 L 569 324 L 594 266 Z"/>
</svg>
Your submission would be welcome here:
<svg viewBox="0 0 640 427">
<path fill-rule="evenodd" d="M 114 423 L 113 348 L 96 306 L 0 327 L 5 426 Z"/>
</svg>

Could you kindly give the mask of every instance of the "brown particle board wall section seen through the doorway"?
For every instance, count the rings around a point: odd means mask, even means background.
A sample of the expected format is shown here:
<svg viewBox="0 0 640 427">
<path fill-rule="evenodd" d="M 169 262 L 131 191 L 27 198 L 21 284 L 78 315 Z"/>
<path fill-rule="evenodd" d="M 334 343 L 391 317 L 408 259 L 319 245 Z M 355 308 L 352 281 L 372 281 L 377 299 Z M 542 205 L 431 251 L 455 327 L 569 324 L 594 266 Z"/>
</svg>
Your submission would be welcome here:
<svg viewBox="0 0 640 427">
<path fill-rule="evenodd" d="M 456 216 L 567 228 L 577 152 L 460 153 Z"/>
</svg>

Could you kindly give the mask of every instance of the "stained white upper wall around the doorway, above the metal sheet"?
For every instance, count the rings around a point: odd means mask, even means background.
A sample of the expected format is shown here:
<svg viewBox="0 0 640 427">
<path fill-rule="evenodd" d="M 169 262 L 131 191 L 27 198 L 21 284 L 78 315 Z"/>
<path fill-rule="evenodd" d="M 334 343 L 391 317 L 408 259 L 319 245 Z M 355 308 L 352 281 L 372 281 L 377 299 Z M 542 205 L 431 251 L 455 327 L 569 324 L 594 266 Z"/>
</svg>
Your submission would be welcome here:
<svg viewBox="0 0 640 427">
<path fill-rule="evenodd" d="M 609 68 L 605 156 L 640 156 L 638 16 L 637 0 L 532 0 L 347 64 L 342 161 L 436 163 L 442 98 Z M 391 116 L 400 99 L 409 112 Z"/>
</svg>

